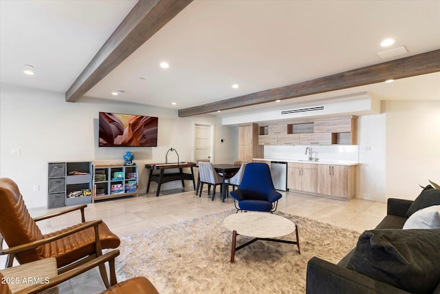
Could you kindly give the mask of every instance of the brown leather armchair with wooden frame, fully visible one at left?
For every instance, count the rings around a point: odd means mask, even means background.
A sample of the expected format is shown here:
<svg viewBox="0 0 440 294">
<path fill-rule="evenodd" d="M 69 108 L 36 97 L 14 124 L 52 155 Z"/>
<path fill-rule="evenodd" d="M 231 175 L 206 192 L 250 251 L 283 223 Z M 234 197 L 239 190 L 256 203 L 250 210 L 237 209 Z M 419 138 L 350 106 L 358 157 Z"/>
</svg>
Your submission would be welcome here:
<svg viewBox="0 0 440 294">
<path fill-rule="evenodd" d="M 7 267 L 12 266 L 14 258 L 23 264 L 54 257 L 58 273 L 63 273 L 102 255 L 102 249 L 114 249 L 120 244 L 118 236 L 111 233 L 102 220 L 85 221 L 87 204 L 32 218 L 19 187 L 9 178 L 0 178 L 0 203 L 0 234 L 9 246 L 8 249 L 0 246 L 0 255 L 8 255 Z M 36 224 L 39 220 L 78 210 L 81 222 L 61 231 L 43 235 Z M 99 269 L 102 281 L 108 287 L 104 264 L 100 264 Z"/>
</svg>

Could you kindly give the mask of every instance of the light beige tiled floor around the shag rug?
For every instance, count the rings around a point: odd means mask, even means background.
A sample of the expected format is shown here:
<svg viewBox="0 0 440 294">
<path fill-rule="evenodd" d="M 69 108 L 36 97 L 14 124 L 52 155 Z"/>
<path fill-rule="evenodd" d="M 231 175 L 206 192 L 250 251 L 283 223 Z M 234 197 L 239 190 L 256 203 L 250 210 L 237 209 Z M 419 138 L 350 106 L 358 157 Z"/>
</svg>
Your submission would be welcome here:
<svg viewBox="0 0 440 294">
<path fill-rule="evenodd" d="M 278 210 L 284 213 L 305 216 L 320 222 L 327 222 L 360 233 L 373 229 L 386 215 L 386 203 L 360 199 L 332 200 L 300 193 L 281 192 L 283 198 L 278 202 Z M 203 191 L 201 198 L 195 192 L 181 189 L 161 191 L 159 197 L 155 191 L 139 197 L 119 198 L 89 204 L 86 209 L 86 220 L 102 219 L 118 236 L 131 235 L 162 227 L 208 213 L 232 209 L 234 201 L 227 198 L 221 202 L 216 195 L 214 201 Z M 54 209 L 32 209 L 32 216 L 40 216 Z M 59 216 L 52 220 L 39 222 L 43 233 L 63 229 L 69 224 L 80 222 L 80 213 Z M 4 259 L 1 260 L 4 266 Z M 73 290 L 72 290 L 73 289 Z M 98 271 L 91 271 L 61 284 L 60 293 L 99 293 L 104 289 Z"/>
</svg>

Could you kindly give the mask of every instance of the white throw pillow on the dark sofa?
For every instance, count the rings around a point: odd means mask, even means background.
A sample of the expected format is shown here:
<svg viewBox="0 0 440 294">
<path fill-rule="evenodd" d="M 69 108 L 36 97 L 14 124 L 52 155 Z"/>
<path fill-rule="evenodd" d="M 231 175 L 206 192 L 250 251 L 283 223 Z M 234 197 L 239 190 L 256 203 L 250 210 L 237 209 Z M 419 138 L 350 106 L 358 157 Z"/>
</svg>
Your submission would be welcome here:
<svg viewBox="0 0 440 294">
<path fill-rule="evenodd" d="M 403 229 L 440 229 L 440 205 L 426 207 L 412 213 Z"/>
</svg>

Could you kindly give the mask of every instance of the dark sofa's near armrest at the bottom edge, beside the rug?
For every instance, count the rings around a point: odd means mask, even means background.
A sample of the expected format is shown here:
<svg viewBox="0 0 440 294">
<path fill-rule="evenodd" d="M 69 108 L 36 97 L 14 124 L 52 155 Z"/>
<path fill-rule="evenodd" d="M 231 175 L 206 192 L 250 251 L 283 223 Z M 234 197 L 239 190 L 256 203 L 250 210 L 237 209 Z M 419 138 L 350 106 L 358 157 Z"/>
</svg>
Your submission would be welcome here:
<svg viewBox="0 0 440 294">
<path fill-rule="evenodd" d="M 399 288 L 320 258 L 307 263 L 306 294 L 393 293 L 408 294 Z"/>
</svg>

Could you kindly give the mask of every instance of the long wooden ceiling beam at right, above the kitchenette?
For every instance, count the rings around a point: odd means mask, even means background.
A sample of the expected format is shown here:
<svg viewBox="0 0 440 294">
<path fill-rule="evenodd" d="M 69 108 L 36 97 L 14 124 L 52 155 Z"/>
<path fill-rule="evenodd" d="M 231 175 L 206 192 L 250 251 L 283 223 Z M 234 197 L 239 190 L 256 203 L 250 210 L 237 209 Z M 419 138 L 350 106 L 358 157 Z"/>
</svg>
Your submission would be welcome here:
<svg viewBox="0 0 440 294">
<path fill-rule="evenodd" d="M 349 87 L 380 83 L 391 78 L 396 80 L 397 78 L 408 78 L 409 76 L 430 74 L 432 72 L 440 72 L 440 50 L 370 65 L 356 70 L 349 70 L 348 72 L 332 74 L 331 76 L 316 78 L 311 81 L 179 109 L 179 117 L 208 114 L 210 112 L 217 112 L 217 110 L 269 103 L 278 99 L 285 100 L 311 94 L 331 92 Z"/>
</svg>

